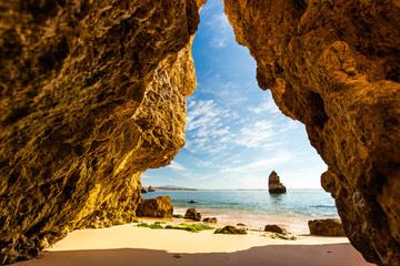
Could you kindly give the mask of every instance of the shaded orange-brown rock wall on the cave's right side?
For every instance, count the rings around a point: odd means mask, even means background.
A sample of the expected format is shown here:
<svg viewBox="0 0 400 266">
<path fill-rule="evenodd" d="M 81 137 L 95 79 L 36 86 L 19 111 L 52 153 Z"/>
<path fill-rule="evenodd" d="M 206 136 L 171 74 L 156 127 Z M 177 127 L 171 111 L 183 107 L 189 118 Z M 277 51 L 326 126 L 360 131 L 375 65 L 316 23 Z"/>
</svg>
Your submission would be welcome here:
<svg viewBox="0 0 400 266">
<path fill-rule="evenodd" d="M 306 125 L 351 244 L 400 265 L 400 2 L 224 0 L 279 109 Z"/>
</svg>

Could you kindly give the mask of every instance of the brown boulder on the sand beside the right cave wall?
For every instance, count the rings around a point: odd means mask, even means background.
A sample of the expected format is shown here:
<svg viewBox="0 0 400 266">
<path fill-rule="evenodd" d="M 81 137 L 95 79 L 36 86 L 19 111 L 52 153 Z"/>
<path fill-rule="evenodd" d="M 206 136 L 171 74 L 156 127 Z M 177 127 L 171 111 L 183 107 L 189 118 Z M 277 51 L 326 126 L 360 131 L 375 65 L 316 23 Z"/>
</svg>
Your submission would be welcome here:
<svg viewBox="0 0 400 266">
<path fill-rule="evenodd" d="M 320 236 L 346 236 L 339 218 L 313 219 L 308 222 L 310 234 Z"/>
</svg>

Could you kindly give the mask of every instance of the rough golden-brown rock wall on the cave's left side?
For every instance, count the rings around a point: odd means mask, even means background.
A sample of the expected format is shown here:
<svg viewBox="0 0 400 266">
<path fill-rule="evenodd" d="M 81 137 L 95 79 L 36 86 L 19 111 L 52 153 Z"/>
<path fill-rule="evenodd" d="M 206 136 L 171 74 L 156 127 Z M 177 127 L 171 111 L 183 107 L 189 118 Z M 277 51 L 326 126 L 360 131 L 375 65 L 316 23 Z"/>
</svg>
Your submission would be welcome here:
<svg viewBox="0 0 400 266">
<path fill-rule="evenodd" d="M 131 222 L 184 145 L 194 0 L 0 3 L 0 264 Z"/>
</svg>

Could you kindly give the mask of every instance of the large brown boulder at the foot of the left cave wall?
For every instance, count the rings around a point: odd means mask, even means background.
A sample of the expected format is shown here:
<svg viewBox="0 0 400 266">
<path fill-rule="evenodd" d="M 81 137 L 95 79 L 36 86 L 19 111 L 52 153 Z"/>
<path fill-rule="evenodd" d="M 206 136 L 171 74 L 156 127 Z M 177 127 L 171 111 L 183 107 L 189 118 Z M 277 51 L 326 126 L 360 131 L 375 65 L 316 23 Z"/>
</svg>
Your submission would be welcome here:
<svg viewBox="0 0 400 266">
<path fill-rule="evenodd" d="M 139 217 L 172 217 L 173 206 L 169 196 L 158 196 L 156 198 L 143 198 L 138 206 L 137 216 Z"/>
</svg>

